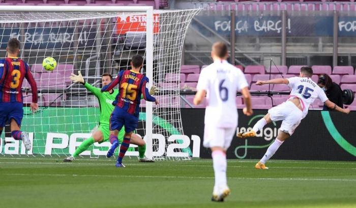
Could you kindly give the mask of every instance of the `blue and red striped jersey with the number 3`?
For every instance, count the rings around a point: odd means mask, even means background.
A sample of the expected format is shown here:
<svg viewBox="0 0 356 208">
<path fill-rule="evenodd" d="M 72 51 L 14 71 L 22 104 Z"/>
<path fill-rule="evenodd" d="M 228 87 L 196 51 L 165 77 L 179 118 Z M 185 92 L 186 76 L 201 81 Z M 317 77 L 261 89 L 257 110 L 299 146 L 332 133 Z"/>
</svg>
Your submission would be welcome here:
<svg viewBox="0 0 356 208">
<path fill-rule="evenodd" d="M 22 82 L 32 88 L 32 102 L 37 103 L 37 85 L 28 64 L 17 57 L 0 59 L 0 102 L 22 102 Z"/>
</svg>

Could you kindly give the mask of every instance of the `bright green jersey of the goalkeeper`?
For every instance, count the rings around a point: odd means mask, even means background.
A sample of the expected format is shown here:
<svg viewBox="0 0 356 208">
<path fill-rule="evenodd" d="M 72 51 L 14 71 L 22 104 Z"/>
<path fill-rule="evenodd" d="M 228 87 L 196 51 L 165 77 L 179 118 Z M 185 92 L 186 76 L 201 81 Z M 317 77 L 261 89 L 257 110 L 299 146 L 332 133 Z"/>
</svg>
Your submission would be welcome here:
<svg viewBox="0 0 356 208">
<path fill-rule="evenodd" d="M 118 89 L 114 89 L 113 93 L 110 92 L 101 92 L 101 88 L 96 88 L 87 82 L 85 82 L 84 87 L 91 91 L 99 100 L 100 107 L 100 120 L 99 125 L 109 126 L 110 115 L 114 110 L 112 102 L 115 100 L 116 95 L 118 94 Z"/>
</svg>

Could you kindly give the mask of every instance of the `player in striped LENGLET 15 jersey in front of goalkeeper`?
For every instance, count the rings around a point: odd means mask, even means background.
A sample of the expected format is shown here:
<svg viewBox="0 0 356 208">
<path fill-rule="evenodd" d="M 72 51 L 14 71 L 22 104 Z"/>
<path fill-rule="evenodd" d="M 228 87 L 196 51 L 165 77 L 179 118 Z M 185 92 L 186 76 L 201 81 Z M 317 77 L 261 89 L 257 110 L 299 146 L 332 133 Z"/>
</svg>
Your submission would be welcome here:
<svg viewBox="0 0 356 208">
<path fill-rule="evenodd" d="M 146 88 L 149 79 L 140 73 L 143 58 L 135 55 L 132 57 L 130 64 L 132 70 L 121 71 L 114 81 L 101 89 L 104 92 L 110 91 L 117 84 L 119 86 L 119 94 L 115 100 L 116 106 L 110 116 L 109 139 L 112 146 L 108 151 L 109 155 L 118 147 L 117 135 L 123 126 L 125 126 L 124 140 L 120 146 L 116 167 L 125 167 L 122 164 L 122 160 L 130 146 L 132 132 L 138 126 L 141 94 L 143 95 L 143 99 L 155 102 L 158 105 L 158 101 L 150 95 L 149 90 Z"/>
</svg>

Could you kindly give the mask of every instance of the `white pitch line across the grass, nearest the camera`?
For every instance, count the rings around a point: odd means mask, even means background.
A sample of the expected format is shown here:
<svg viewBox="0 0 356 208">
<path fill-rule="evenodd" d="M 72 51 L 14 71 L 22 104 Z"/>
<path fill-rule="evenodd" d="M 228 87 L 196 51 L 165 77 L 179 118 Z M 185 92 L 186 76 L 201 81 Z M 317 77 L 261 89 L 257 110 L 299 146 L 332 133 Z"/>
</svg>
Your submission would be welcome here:
<svg viewBox="0 0 356 208">
<path fill-rule="evenodd" d="M 127 175 L 69 175 L 69 174 L 0 174 L 3 176 L 58 176 L 58 177 L 108 177 L 108 178 L 171 178 L 171 179 L 214 179 L 214 177 L 193 177 L 193 176 L 127 176 Z M 271 181 L 345 181 L 356 182 L 356 179 L 307 179 L 307 178 L 244 178 L 227 177 L 235 180 L 271 180 Z"/>
</svg>

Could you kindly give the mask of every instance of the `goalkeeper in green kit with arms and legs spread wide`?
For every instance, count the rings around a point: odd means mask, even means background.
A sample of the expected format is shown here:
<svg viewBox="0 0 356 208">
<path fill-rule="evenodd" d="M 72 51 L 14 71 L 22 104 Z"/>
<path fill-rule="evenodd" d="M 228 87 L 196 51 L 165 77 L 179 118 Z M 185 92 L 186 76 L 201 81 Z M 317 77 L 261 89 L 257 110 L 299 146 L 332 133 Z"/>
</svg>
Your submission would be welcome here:
<svg viewBox="0 0 356 208">
<path fill-rule="evenodd" d="M 95 142 L 102 143 L 109 140 L 110 130 L 109 130 L 109 121 L 110 115 L 114 109 L 112 102 L 115 100 L 116 95 L 118 94 L 118 89 L 110 90 L 108 92 L 101 92 L 101 88 L 96 88 L 88 83 L 86 83 L 81 76 L 80 71 L 78 71 L 78 75 L 72 74 L 70 79 L 73 82 L 80 82 L 84 85 L 84 87 L 91 91 L 99 100 L 100 106 L 100 121 L 99 128 L 92 134 L 91 137 L 84 140 L 84 142 L 79 145 L 79 147 L 75 150 L 74 154 L 64 159 L 64 162 L 72 162 L 74 158 L 76 158 L 80 153 L 87 150 L 92 144 Z M 112 81 L 112 76 L 110 74 L 104 73 L 101 76 L 102 85 L 108 85 Z M 150 94 L 154 94 L 158 89 L 155 86 L 152 86 L 150 89 Z M 124 138 L 125 129 L 122 128 L 118 133 L 118 141 L 121 144 Z M 139 153 L 139 162 L 154 162 L 150 158 L 145 157 L 144 153 L 146 151 L 146 143 L 142 140 L 142 138 L 133 133 L 130 140 L 131 144 L 138 146 Z"/>
</svg>

